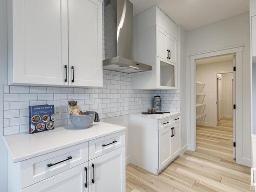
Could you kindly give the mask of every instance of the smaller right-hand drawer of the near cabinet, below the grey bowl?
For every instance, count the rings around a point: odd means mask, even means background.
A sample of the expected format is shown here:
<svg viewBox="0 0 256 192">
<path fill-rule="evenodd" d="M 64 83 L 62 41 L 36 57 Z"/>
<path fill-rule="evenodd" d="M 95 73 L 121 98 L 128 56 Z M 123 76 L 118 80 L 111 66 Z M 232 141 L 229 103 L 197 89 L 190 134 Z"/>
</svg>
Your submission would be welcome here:
<svg viewBox="0 0 256 192">
<path fill-rule="evenodd" d="M 109 153 L 124 145 L 124 131 L 89 141 L 89 160 Z"/>
</svg>

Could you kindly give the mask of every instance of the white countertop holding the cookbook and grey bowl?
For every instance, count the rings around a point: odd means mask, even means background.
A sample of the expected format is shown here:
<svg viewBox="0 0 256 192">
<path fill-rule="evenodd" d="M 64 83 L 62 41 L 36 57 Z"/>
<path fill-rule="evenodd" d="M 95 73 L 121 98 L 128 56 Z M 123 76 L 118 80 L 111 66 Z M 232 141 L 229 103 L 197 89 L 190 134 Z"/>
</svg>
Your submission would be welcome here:
<svg viewBox="0 0 256 192">
<path fill-rule="evenodd" d="M 4 136 L 3 138 L 15 163 L 121 132 L 125 129 L 125 127 L 119 125 L 94 122 L 93 126 L 85 130 L 76 130 L 73 125 L 68 125 L 56 127 L 56 129 L 46 132 L 20 133 Z"/>
</svg>

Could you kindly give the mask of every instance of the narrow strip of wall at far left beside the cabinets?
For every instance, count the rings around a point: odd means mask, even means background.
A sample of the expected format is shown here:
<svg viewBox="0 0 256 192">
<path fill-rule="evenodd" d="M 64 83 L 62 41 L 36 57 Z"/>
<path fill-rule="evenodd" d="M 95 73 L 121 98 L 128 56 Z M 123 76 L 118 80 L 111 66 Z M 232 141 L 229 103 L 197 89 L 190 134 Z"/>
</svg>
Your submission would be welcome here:
<svg viewBox="0 0 256 192">
<path fill-rule="evenodd" d="M 0 190 L 7 191 L 7 151 L 3 142 L 4 84 L 7 83 L 7 0 L 0 0 Z"/>
</svg>

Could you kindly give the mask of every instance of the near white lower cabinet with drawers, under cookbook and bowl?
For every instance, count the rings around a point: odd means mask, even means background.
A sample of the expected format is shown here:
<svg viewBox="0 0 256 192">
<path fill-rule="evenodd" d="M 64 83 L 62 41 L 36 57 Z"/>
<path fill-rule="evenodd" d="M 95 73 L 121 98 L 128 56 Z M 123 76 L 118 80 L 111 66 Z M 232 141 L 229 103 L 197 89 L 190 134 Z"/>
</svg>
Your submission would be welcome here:
<svg viewBox="0 0 256 192">
<path fill-rule="evenodd" d="M 8 155 L 8 192 L 18 191 L 125 192 L 125 132 L 17 163 Z"/>
</svg>

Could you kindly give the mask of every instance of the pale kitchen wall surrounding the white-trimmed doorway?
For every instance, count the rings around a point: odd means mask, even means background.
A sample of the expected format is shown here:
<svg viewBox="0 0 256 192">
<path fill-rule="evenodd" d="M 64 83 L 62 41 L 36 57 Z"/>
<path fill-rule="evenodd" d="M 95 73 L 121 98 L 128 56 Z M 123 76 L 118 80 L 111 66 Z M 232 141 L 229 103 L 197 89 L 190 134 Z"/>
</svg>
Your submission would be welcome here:
<svg viewBox="0 0 256 192">
<path fill-rule="evenodd" d="M 250 165 L 250 33 L 249 13 L 237 15 L 220 22 L 206 25 L 187 32 L 186 65 L 187 84 L 191 79 L 189 55 L 244 45 L 242 58 L 242 161 Z M 190 95 L 190 87 L 187 87 Z M 187 98 L 187 124 L 190 123 L 190 98 Z M 188 137 L 190 143 L 190 136 Z"/>
</svg>

